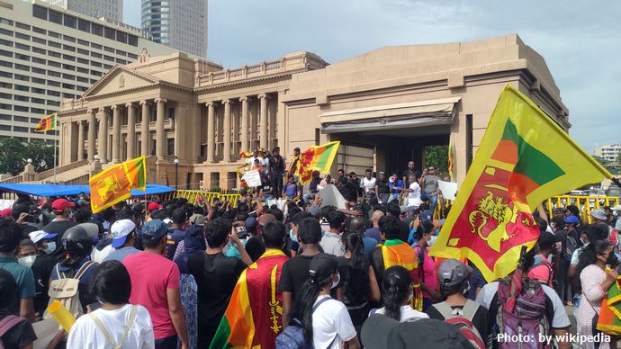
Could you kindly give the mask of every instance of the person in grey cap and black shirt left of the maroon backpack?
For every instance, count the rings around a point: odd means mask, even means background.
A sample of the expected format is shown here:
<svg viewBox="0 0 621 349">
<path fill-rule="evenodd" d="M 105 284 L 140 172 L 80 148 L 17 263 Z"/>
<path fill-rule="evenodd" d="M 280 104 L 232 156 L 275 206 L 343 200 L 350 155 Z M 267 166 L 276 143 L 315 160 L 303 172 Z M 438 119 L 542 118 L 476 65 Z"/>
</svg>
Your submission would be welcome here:
<svg viewBox="0 0 621 349">
<path fill-rule="evenodd" d="M 464 293 L 470 286 L 473 269 L 456 259 L 447 259 L 438 269 L 440 291 L 446 299 L 427 309 L 429 318 L 445 321 L 448 318 L 461 317 L 473 324 L 473 333 L 478 335 L 486 348 L 491 348 L 491 318 L 488 310 L 479 303 L 468 300 Z"/>
</svg>

